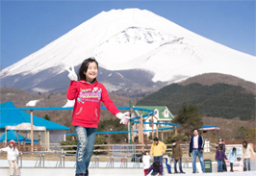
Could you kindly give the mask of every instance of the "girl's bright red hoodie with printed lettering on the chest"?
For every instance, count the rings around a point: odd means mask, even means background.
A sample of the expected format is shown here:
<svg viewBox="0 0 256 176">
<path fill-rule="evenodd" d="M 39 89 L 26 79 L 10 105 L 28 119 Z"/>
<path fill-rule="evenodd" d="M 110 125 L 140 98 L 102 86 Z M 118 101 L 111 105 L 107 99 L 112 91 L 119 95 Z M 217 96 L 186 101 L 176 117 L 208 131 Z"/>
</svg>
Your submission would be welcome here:
<svg viewBox="0 0 256 176">
<path fill-rule="evenodd" d="M 92 84 L 84 80 L 71 81 L 66 98 L 68 100 L 75 99 L 71 123 L 74 126 L 97 128 L 101 101 L 111 113 L 114 115 L 119 113 L 110 99 L 107 89 L 97 81 Z"/>
</svg>

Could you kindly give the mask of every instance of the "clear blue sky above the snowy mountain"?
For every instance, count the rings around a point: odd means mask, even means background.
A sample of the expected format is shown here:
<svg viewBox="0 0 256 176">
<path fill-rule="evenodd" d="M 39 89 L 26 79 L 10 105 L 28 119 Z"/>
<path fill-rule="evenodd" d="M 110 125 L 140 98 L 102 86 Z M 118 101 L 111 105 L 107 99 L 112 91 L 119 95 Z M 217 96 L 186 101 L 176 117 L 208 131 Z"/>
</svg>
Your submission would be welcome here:
<svg viewBox="0 0 256 176">
<path fill-rule="evenodd" d="M 1 0 L 1 69 L 38 51 L 102 11 L 139 8 L 255 56 L 255 0 Z"/>
</svg>

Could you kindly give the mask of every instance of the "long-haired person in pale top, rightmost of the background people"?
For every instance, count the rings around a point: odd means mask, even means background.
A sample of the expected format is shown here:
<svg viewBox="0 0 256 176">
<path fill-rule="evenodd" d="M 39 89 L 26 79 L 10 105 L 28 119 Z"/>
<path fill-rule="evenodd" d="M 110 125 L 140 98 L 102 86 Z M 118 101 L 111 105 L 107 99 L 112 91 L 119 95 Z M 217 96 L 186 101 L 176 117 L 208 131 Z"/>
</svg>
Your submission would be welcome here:
<svg viewBox="0 0 256 176">
<path fill-rule="evenodd" d="M 243 141 L 243 171 L 250 171 L 250 152 L 255 156 L 254 151 L 246 140 Z M 248 168 L 247 168 L 248 166 Z"/>
</svg>

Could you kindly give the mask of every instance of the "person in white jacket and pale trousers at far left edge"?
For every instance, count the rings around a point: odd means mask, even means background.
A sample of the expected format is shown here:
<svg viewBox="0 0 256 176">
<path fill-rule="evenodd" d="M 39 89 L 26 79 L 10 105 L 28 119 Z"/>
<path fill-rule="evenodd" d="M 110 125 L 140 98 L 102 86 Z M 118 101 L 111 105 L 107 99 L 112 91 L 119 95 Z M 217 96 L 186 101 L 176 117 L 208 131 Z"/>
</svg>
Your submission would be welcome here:
<svg viewBox="0 0 256 176">
<path fill-rule="evenodd" d="M 13 176 L 14 170 L 15 175 L 19 175 L 18 171 L 18 164 L 17 164 L 17 157 L 18 157 L 18 150 L 15 147 L 15 141 L 10 140 L 9 146 L 5 148 L 0 148 L 0 152 L 7 152 L 7 160 L 10 164 L 10 175 Z"/>
</svg>

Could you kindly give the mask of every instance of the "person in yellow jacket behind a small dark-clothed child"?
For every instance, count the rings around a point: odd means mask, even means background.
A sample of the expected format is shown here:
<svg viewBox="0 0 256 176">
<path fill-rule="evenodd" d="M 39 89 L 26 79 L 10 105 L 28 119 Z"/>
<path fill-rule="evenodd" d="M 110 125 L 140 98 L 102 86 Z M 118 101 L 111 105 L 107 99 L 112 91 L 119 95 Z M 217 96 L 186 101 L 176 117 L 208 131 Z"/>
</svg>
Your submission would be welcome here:
<svg viewBox="0 0 256 176">
<path fill-rule="evenodd" d="M 154 162 L 159 161 L 163 163 L 163 154 L 166 152 L 166 144 L 159 141 L 158 138 L 154 138 L 154 142 L 151 145 L 150 155 L 154 157 Z"/>
</svg>

